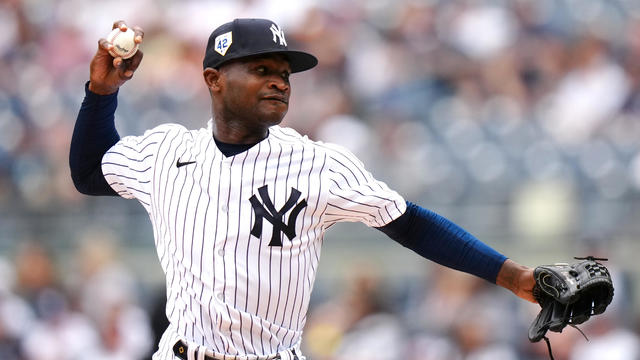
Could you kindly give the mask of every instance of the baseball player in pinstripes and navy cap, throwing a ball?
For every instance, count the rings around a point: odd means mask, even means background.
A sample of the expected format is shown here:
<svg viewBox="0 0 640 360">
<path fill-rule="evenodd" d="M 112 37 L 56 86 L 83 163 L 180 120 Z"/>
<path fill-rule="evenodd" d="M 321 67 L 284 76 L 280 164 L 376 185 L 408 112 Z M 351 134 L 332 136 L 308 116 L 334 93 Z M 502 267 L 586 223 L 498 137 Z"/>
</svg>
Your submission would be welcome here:
<svg viewBox="0 0 640 360">
<path fill-rule="evenodd" d="M 142 42 L 142 29 L 134 30 Z M 212 117 L 197 130 L 163 124 L 120 138 L 118 89 L 142 52 L 114 59 L 110 46 L 100 40 L 91 61 L 71 176 L 82 193 L 136 199 L 149 214 L 170 322 L 153 359 L 304 359 L 323 236 L 341 221 L 363 222 L 427 259 L 535 301 L 532 269 L 405 201 L 346 149 L 278 125 L 290 74 L 317 60 L 289 49 L 276 23 L 236 19 L 211 33 L 203 78 Z"/>
</svg>

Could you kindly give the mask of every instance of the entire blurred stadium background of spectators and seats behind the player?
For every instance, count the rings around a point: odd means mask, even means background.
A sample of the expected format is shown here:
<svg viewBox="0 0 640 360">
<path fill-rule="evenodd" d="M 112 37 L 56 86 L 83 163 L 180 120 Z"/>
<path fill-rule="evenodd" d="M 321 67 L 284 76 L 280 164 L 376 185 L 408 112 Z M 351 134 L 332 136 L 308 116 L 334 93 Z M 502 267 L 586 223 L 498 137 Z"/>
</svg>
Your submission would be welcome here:
<svg viewBox="0 0 640 360">
<path fill-rule="evenodd" d="M 145 30 L 121 135 L 206 126 L 210 32 L 267 17 L 320 65 L 285 125 L 342 144 L 406 199 L 529 266 L 609 258 L 607 313 L 551 334 L 556 359 L 640 359 L 640 2 L 0 2 L 0 359 L 146 359 L 163 274 L 135 201 L 91 198 L 68 151 L 97 40 Z M 314 360 L 546 359 L 539 307 L 360 224 L 325 236 Z"/>
</svg>

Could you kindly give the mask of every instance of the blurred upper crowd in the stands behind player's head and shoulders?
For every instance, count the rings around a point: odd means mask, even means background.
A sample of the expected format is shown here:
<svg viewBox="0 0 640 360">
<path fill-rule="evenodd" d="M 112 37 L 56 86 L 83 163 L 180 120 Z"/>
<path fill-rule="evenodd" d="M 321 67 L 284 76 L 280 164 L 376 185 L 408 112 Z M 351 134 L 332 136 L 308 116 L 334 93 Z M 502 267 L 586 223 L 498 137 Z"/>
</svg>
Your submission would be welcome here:
<svg viewBox="0 0 640 360">
<path fill-rule="evenodd" d="M 293 78 L 285 125 L 350 147 L 408 197 L 505 203 L 523 183 L 550 179 L 587 199 L 638 193 L 637 1 L 9 0 L 0 204 L 86 202 L 70 186 L 68 140 L 113 18 L 146 34 L 143 65 L 119 99 L 127 135 L 166 121 L 204 126 L 206 39 L 257 15 L 320 59 Z"/>
</svg>

